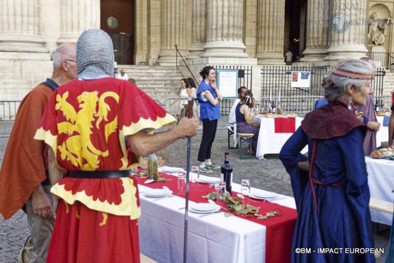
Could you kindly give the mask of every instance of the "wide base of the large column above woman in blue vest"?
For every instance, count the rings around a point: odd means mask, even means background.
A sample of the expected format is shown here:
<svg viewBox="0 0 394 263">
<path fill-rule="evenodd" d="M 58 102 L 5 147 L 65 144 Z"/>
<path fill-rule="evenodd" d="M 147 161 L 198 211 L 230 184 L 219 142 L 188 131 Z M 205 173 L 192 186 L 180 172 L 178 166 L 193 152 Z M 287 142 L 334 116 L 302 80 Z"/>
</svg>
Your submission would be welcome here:
<svg viewBox="0 0 394 263">
<path fill-rule="evenodd" d="M 214 41 L 204 45 L 205 52 L 201 57 L 249 57 L 245 53 L 245 45 L 242 42 Z"/>
</svg>

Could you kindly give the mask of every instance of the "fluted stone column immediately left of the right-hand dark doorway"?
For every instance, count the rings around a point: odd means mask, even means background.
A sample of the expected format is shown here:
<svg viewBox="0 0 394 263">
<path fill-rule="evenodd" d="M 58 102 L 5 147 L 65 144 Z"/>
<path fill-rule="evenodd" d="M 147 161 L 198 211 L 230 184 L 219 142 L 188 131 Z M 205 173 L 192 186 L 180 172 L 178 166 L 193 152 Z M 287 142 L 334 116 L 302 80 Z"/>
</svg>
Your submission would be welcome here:
<svg viewBox="0 0 394 263">
<path fill-rule="evenodd" d="M 257 63 L 285 65 L 285 0 L 260 0 L 257 19 Z"/>
</svg>

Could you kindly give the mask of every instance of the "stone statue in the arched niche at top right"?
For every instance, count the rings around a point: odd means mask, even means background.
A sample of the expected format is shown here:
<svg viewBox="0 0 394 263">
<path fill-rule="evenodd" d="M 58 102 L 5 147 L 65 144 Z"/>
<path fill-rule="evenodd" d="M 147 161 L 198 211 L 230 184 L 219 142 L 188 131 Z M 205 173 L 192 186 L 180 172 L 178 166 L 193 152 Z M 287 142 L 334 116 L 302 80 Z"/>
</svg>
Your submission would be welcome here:
<svg viewBox="0 0 394 263">
<path fill-rule="evenodd" d="M 379 19 L 377 12 L 371 13 L 368 22 L 368 44 L 375 46 L 383 45 L 387 35 L 387 26 L 391 24 L 391 12 L 388 13 L 385 19 Z"/>
</svg>

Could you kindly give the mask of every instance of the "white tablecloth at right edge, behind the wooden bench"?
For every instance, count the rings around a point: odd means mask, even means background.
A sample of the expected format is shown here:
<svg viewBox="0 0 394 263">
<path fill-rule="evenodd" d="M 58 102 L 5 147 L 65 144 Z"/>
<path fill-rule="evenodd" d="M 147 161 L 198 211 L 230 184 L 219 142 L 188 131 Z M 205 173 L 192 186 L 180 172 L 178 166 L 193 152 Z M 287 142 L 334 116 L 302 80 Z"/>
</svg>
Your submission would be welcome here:
<svg viewBox="0 0 394 263">
<path fill-rule="evenodd" d="M 394 193 L 394 161 L 365 157 L 368 172 L 368 186 L 371 197 L 392 202 Z M 392 214 L 370 209 L 373 222 L 390 225 Z"/>
</svg>

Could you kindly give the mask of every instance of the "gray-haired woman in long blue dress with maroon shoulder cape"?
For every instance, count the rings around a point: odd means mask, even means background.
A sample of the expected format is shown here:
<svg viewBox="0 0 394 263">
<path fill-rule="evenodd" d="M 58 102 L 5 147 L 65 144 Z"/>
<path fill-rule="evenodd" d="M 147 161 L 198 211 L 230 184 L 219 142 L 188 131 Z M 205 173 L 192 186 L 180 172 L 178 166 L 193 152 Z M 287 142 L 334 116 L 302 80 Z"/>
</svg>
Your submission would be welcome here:
<svg viewBox="0 0 394 263">
<path fill-rule="evenodd" d="M 366 127 L 352 111 L 352 104 L 366 103 L 372 77 L 369 63 L 342 60 L 327 80 L 328 105 L 308 113 L 281 150 L 298 210 L 292 263 L 375 262 L 371 253 L 317 252 L 318 248 L 374 247 L 363 151 Z M 300 172 L 297 159 L 305 145 L 308 175 Z M 295 248 L 316 252 L 297 254 Z"/>
</svg>

